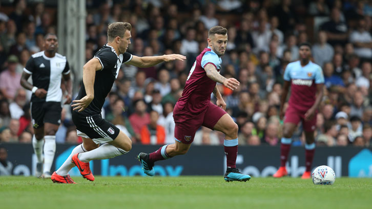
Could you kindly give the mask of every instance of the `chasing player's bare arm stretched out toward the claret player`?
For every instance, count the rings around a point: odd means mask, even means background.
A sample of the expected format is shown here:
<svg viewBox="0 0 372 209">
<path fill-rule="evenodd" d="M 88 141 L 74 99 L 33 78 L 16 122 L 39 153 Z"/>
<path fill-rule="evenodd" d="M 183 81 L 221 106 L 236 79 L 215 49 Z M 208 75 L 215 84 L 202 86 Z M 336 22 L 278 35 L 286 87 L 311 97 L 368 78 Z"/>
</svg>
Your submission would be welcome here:
<svg viewBox="0 0 372 209">
<path fill-rule="evenodd" d="M 184 59 L 186 59 L 186 57 L 180 54 L 167 54 L 167 55 L 162 55 L 162 56 L 144 56 L 144 57 L 133 55 L 132 59 L 129 62 L 127 62 L 127 64 L 136 66 L 139 68 L 148 68 L 148 67 L 155 66 L 163 61 L 173 61 L 176 59 L 183 61 Z"/>
</svg>

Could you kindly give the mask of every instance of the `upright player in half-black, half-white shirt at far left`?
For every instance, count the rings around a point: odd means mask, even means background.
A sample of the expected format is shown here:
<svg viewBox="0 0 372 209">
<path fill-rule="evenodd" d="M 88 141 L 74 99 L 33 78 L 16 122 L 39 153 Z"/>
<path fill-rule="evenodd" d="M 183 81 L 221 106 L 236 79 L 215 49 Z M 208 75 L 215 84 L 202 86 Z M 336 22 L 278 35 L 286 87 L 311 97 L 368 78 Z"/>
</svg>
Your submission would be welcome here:
<svg viewBox="0 0 372 209">
<path fill-rule="evenodd" d="M 30 57 L 20 78 L 20 85 L 32 91 L 31 116 L 35 133 L 32 145 L 37 157 L 35 175 L 43 178 L 51 177 L 50 168 L 55 153 L 55 133 L 60 124 L 62 110 L 63 92 L 60 88 L 62 76 L 67 90 L 65 104 L 71 103 L 72 94 L 69 63 L 65 56 L 56 53 L 57 48 L 57 36 L 52 33 L 45 35 L 45 51 L 35 53 Z M 27 81 L 30 76 L 32 76 L 33 84 Z"/>
</svg>

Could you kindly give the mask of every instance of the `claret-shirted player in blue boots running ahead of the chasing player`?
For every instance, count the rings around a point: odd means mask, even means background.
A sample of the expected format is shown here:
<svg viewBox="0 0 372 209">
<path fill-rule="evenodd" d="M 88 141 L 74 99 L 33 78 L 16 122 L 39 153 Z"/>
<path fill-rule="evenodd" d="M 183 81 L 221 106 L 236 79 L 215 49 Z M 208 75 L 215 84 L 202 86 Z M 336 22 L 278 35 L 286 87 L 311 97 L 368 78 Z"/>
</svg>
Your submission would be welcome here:
<svg viewBox="0 0 372 209">
<path fill-rule="evenodd" d="M 226 181 L 247 181 L 249 175 L 244 175 L 236 169 L 235 162 L 238 153 L 238 125 L 224 110 L 223 101 L 216 82 L 222 83 L 231 90 L 237 89 L 239 81 L 235 78 L 225 78 L 219 74 L 221 56 L 225 53 L 228 42 L 228 30 L 215 26 L 208 33 L 208 48 L 196 57 L 190 70 L 181 98 L 173 110 L 176 123 L 174 130 L 175 143 L 162 146 L 156 152 L 139 153 L 144 173 L 154 176 L 154 162 L 165 160 L 176 155 L 186 154 L 194 140 L 195 132 L 204 126 L 225 134 L 224 151 L 226 154 Z M 211 94 L 216 96 L 217 105 L 211 103 Z"/>
</svg>

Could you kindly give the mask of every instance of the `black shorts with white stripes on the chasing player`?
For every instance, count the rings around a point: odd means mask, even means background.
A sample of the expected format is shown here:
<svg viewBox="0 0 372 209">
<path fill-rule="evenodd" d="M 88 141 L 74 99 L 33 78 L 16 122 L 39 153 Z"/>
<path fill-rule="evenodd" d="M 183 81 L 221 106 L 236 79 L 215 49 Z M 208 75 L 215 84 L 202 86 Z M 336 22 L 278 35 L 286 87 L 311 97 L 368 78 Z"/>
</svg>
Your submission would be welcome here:
<svg viewBox="0 0 372 209">
<path fill-rule="evenodd" d="M 84 116 L 72 111 L 72 121 L 76 126 L 77 135 L 91 138 L 95 143 L 106 143 L 114 140 L 120 130 L 101 115 Z"/>
</svg>

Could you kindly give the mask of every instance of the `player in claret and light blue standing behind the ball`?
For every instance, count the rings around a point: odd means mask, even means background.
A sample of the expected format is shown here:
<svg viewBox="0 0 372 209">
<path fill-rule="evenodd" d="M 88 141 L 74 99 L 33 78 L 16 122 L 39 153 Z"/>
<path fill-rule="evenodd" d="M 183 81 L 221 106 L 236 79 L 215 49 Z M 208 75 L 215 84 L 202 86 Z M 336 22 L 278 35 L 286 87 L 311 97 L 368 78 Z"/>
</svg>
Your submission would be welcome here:
<svg viewBox="0 0 372 209">
<path fill-rule="evenodd" d="M 283 118 L 283 106 L 288 90 L 291 86 L 289 106 L 285 112 L 283 137 L 280 145 L 280 168 L 273 175 L 279 178 L 286 176 L 285 163 L 291 149 L 292 134 L 297 124 L 302 121 L 305 132 L 305 165 L 303 179 L 311 177 L 311 165 L 313 163 L 315 143 L 314 131 L 316 112 L 323 97 L 324 76 L 320 66 L 311 60 L 311 46 L 308 43 L 300 44 L 300 60 L 291 62 L 284 71 L 284 86 L 280 100 L 280 117 Z"/>
</svg>

